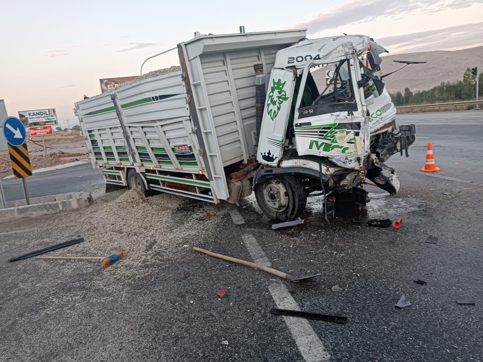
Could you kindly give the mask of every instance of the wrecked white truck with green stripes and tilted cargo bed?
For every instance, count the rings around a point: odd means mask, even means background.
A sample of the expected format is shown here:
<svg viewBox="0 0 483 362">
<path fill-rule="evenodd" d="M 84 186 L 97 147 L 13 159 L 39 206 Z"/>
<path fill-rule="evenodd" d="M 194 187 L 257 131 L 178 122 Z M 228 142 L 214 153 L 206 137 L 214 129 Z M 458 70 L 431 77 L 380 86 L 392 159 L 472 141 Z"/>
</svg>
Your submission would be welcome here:
<svg viewBox="0 0 483 362">
<path fill-rule="evenodd" d="M 106 190 L 213 203 L 255 191 L 262 211 L 280 221 L 297 218 L 309 195 L 324 195 L 326 218 L 334 202 L 365 205 L 366 178 L 398 191 L 383 162 L 407 156 L 415 130 L 396 125 L 375 75 L 385 49 L 369 37 L 197 33 L 177 51 L 180 70 L 75 104 Z"/>
</svg>

